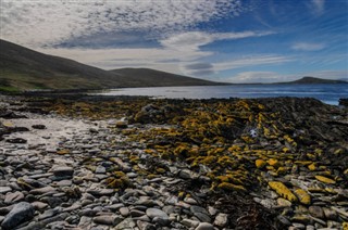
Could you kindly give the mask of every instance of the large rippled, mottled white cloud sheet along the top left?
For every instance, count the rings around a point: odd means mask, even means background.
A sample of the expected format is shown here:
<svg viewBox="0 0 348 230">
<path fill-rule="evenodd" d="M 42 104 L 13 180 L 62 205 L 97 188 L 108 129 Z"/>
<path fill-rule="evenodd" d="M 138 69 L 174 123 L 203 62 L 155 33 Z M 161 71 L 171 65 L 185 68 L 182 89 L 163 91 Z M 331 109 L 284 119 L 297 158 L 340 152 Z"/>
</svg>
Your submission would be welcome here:
<svg viewBox="0 0 348 230">
<path fill-rule="evenodd" d="M 167 36 L 240 11 L 238 0 L 1 0 L 1 38 L 54 46 L 98 33 Z"/>
</svg>

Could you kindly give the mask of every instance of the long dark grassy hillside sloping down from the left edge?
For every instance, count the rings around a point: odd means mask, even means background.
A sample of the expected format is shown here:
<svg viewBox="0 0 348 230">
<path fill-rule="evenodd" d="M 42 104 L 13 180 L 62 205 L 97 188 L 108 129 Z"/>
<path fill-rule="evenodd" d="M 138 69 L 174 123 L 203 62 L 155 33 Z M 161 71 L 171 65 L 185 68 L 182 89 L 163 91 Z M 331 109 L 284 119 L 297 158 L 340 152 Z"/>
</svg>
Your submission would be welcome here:
<svg viewBox="0 0 348 230">
<path fill-rule="evenodd" d="M 221 84 L 148 68 L 103 71 L 0 39 L 0 91 L 208 85 Z"/>
</svg>

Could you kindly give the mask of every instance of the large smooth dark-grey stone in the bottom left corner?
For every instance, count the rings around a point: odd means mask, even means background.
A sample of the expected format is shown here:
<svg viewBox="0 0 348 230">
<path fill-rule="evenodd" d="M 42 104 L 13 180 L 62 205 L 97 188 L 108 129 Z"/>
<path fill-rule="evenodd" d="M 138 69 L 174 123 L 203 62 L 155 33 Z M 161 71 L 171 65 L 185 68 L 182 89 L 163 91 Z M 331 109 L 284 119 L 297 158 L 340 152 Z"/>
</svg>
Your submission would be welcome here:
<svg viewBox="0 0 348 230">
<path fill-rule="evenodd" d="M 21 202 L 12 208 L 1 223 L 3 230 L 14 229 L 20 223 L 34 217 L 34 206 L 27 202 Z"/>
</svg>

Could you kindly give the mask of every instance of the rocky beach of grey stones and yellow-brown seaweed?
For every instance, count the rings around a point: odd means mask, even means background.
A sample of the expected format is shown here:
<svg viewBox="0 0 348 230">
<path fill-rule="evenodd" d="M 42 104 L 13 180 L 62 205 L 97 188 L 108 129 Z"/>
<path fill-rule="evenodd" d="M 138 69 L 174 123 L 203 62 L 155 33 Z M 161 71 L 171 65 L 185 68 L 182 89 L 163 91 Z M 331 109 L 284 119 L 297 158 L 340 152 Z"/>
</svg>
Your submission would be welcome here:
<svg viewBox="0 0 348 230">
<path fill-rule="evenodd" d="M 348 229 L 348 107 L 0 95 L 1 229 Z"/>
</svg>

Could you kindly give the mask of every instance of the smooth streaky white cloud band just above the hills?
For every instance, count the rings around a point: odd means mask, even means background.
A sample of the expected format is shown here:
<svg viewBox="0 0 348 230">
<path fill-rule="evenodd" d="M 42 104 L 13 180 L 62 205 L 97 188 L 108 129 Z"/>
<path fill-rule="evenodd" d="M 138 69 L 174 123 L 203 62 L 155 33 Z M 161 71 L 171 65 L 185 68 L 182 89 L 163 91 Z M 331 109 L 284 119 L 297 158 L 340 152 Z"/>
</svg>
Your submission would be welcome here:
<svg viewBox="0 0 348 230">
<path fill-rule="evenodd" d="M 116 67 L 157 67 L 162 71 L 195 75 L 199 69 L 189 69 L 186 66 L 195 64 L 202 58 L 212 56 L 214 52 L 202 51 L 200 46 L 208 44 L 221 39 L 240 39 L 253 36 L 263 36 L 269 33 L 184 33 L 163 39 L 161 48 L 134 48 L 134 49 L 79 49 L 79 48 L 45 48 L 37 49 L 40 52 L 69 58 L 82 63 L 95 65 L 105 69 Z M 237 68 L 248 65 L 272 64 L 284 62 L 281 56 L 258 56 L 217 64 L 211 64 L 213 69 L 206 69 L 213 73 L 215 71 Z M 163 65 L 163 66 L 162 66 Z M 179 65 L 179 66 L 177 66 Z M 207 72 L 208 73 L 208 72 Z"/>
</svg>

